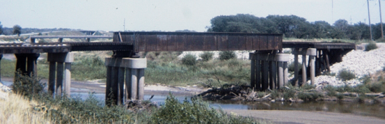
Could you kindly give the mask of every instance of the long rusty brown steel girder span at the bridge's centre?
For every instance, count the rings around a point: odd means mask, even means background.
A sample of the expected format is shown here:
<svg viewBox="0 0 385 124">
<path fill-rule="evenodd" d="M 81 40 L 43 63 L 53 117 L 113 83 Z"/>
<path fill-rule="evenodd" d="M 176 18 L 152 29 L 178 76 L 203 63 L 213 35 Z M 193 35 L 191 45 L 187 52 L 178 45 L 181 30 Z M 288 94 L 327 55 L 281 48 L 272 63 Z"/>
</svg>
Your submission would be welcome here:
<svg viewBox="0 0 385 124">
<path fill-rule="evenodd" d="M 114 42 L 132 42 L 134 52 L 279 50 L 282 34 L 115 32 Z"/>
</svg>

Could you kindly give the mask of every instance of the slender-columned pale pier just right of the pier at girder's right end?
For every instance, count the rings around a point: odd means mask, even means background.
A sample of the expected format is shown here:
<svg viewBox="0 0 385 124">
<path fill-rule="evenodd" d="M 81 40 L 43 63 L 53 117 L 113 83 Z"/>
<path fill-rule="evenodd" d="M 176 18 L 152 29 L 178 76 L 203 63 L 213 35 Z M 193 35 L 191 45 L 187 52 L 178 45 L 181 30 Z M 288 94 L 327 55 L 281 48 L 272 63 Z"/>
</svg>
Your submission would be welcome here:
<svg viewBox="0 0 385 124">
<path fill-rule="evenodd" d="M 295 48 L 292 52 L 292 54 L 294 54 L 294 79 L 293 79 L 293 84 L 294 86 L 299 86 L 299 81 L 298 81 L 298 77 L 299 77 L 299 68 L 298 68 L 298 65 L 295 64 L 295 63 L 299 63 L 298 62 L 298 54 L 301 54 L 302 55 L 302 84 L 305 84 L 307 82 L 307 67 L 306 67 L 306 55 L 309 56 L 309 59 L 308 59 L 308 68 L 310 68 L 310 79 L 311 79 L 311 84 L 313 85 L 314 84 L 314 80 L 315 80 L 315 56 L 317 56 L 317 49 L 315 48 Z"/>
</svg>

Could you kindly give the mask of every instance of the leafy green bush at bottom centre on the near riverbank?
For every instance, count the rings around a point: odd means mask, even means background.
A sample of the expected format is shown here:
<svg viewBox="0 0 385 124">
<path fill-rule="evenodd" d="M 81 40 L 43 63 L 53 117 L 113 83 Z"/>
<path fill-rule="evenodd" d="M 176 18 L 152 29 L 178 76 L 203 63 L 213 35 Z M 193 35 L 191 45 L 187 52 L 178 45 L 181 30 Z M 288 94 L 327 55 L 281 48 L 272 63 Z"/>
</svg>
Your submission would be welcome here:
<svg viewBox="0 0 385 124">
<path fill-rule="evenodd" d="M 256 123 L 251 118 L 230 116 L 217 111 L 201 100 L 187 99 L 179 102 L 173 95 L 167 97 L 159 111 L 155 111 L 149 123 Z"/>
</svg>

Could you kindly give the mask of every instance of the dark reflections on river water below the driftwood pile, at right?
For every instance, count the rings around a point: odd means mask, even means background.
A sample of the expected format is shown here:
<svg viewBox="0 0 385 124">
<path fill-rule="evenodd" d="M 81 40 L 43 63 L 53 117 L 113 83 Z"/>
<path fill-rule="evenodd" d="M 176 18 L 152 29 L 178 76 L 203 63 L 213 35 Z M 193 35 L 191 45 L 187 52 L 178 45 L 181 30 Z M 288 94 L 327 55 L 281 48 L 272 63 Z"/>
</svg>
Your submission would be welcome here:
<svg viewBox="0 0 385 124">
<path fill-rule="evenodd" d="M 223 109 L 258 109 L 258 110 L 300 110 L 300 111 L 328 111 L 349 113 L 361 116 L 376 116 L 385 118 L 385 104 L 366 104 L 356 102 L 244 102 L 231 100 L 210 101 L 210 104 L 221 104 Z M 239 108 L 223 107 L 222 104 L 235 104 Z M 243 107 L 246 106 L 246 107 Z"/>
</svg>

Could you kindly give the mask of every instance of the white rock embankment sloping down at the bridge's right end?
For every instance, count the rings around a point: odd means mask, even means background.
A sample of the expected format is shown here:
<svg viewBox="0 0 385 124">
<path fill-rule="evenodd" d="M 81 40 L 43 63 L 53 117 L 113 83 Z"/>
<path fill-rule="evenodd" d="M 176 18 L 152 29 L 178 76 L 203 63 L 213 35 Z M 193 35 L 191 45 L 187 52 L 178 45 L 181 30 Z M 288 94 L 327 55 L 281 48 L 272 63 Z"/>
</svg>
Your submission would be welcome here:
<svg viewBox="0 0 385 124">
<path fill-rule="evenodd" d="M 363 44 L 365 45 L 365 44 Z M 374 74 L 382 70 L 385 66 L 385 43 L 377 43 L 377 49 L 365 52 L 362 49 L 352 50 L 343 56 L 343 61 L 331 65 L 331 73 L 336 73 L 340 70 L 350 70 L 356 75 L 356 79 L 343 82 L 334 76 L 322 75 L 315 78 L 315 84 L 329 84 L 333 86 L 343 86 L 345 84 L 355 86 L 361 84 L 359 79 L 364 75 Z"/>
</svg>

